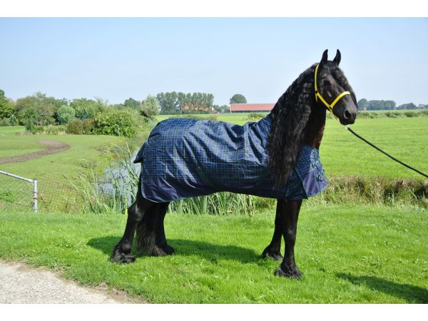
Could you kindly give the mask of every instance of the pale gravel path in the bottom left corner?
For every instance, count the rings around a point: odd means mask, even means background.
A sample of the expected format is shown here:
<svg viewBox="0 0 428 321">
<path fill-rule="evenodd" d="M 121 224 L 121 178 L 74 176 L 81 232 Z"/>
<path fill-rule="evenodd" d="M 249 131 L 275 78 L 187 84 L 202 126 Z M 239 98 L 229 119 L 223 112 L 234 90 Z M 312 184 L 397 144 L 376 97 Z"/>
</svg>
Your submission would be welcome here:
<svg viewBox="0 0 428 321">
<path fill-rule="evenodd" d="M 82 287 L 56 273 L 0 261 L 1 303 L 136 303 L 124 292 Z"/>
</svg>

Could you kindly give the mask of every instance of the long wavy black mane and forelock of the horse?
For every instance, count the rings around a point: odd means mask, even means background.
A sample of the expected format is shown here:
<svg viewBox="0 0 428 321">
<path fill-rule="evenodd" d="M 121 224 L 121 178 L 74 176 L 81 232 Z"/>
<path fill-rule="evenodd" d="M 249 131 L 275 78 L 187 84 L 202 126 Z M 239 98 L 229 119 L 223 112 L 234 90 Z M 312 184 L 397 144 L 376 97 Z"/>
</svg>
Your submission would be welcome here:
<svg viewBox="0 0 428 321">
<path fill-rule="evenodd" d="M 269 165 L 277 185 L 283 185 L 293 168 L 297 154 L 307 135 L 308 121 L 312 107 L 315 106 L 314 72 L 317 63 L 303 71 L 300 76 L 287 88 L 275 103 L 270 116 L 272 129 L 270 131 L 267 151 Z M 319 79 L 326 73 L 331 73 L 343 88 L 355 94 L 336 63 L 328 61 L 319 71 Z M 355 101 L 356 104 L 356 101 Z"/>
</svg>

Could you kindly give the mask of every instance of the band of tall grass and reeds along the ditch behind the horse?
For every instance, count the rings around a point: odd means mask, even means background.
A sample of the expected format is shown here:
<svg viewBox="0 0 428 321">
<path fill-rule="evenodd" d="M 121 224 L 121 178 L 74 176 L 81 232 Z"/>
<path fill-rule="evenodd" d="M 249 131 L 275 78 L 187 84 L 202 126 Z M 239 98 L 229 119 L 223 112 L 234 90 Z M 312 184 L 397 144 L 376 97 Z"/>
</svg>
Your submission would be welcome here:
<svg viewBox="0 0 428 321">
<path fill-rule="evenodd" d="M 126 144 L 117 146 L 118 163 L 106 169 L 103 178 L 93 173 L 81 174 L 73 187 L 82 200 L 85 213 L 126 213 L 138 190 L 140 165 L 133 163 L 133 153 Z M 428 183 L 421 180 L 388 180 L 386 178 L 330 178 L 327 189 L 311 205 L 372 204 L 394 207 L 428 208 Z M 170 213 L 211 215 L 253 215 L 275 208 L 275 199 L 220 192 L 211 195 L 175 200 Z"/>
</svg>

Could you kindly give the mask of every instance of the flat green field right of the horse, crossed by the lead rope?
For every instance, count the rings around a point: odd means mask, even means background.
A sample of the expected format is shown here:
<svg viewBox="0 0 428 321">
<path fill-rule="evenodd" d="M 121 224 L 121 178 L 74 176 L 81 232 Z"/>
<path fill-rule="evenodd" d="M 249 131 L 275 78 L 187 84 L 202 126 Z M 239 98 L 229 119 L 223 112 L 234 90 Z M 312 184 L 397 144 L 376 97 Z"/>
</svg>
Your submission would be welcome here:
<svg viewBox="0 0 428 321">
<path fill-rule="evenodd" d="M 428 173 L 428 117 L 362 118 L 351 127 L 400 161 Z M 423 179 L 360 141 L 332 119 L 327 121 L 320 155 L 327 175 L 331 176 Z"/>
</svg>

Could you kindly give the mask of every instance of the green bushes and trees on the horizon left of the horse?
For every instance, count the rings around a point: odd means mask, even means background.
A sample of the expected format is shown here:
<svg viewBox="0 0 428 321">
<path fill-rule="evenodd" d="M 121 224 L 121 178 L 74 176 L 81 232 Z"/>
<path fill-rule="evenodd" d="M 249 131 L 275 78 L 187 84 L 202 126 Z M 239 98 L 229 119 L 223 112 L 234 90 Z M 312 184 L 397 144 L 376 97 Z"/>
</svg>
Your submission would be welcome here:
<svg viewBox="0 0 428 321">
<path fill-rule="evenodd" d="M 213 104 L 212 93 L 158 93 L 138 101 L 128 98 L 123 103 L 110 104 L 102 98 L 57 99 L 37 92 L 13 101 L 0 89 L 0 126 L 66 125 L 73 119 L 95 119 L 102 113 L 128 111 L 146 118 L 162 114 L 215 113 L 228 111 L 228 106 Z"/>
</svg>

